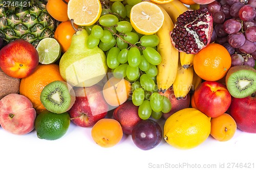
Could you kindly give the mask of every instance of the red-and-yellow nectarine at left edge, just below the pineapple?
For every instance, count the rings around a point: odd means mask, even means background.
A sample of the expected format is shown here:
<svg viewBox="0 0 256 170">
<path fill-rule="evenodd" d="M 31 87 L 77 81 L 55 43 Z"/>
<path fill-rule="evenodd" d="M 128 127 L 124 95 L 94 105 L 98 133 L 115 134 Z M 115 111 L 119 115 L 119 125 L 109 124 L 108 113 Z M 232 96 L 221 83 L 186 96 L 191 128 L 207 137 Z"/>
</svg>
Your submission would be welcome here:
<svg viewBox="0 0 256 170">
<path fill-rule="evenodd" d="M 39 63 L 36 48 L 24 39 L 17 39 L 0 50 L 0 67 L 10 77 L 22 79 L 31 75 Z"/>
</svg>

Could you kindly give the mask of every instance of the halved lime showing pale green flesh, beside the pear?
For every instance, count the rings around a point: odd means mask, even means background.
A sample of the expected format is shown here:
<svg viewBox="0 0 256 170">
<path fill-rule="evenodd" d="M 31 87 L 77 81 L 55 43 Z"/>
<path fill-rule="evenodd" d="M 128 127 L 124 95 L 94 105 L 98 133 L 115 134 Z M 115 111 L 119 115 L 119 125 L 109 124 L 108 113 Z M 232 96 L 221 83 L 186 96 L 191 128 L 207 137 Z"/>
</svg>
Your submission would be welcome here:
<svg viewBox="0 0 256 170">
<path fill-rule="evenodd" d="M 39 54 L 39 63 L 51 64 L 57 61 L 61 54 L 61 47 L 54 38 L 44 38 L 36 46 Z"/>
</svg>

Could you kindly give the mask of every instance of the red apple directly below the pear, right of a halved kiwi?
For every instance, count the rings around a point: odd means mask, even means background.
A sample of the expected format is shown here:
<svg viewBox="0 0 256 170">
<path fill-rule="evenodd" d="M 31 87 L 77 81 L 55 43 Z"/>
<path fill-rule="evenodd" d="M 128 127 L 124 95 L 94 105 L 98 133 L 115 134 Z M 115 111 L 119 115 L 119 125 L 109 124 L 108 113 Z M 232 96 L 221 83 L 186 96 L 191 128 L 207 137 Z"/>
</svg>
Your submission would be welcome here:
<svg viewBox="0 0 256 170">
<path fill-rule="evenodd" d="M 92 127 L 104 118 L 109 105 L 104 100 L 102 88 L 95 84 L 90 87 L 75 87 L 76 100 L 68 111 L 71 121 L 80 127 Z"/>
</svg>

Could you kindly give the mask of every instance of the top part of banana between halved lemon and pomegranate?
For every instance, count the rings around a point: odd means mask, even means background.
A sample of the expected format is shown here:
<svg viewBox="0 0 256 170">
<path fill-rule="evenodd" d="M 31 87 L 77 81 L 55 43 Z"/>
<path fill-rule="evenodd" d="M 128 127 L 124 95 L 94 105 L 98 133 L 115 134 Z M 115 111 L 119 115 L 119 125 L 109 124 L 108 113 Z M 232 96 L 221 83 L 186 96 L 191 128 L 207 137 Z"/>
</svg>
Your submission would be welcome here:
<svg viewBox="0 0 256 170">
<path fill-rule="evenodd" d="M 174 23 L 177 21 L 180 14 L 188 10 L 188 7 L 182 4 L 179 0 L 173 0 L 167 4 L 160 4 L 160 6 L 165 9 Z"/>
</svg>

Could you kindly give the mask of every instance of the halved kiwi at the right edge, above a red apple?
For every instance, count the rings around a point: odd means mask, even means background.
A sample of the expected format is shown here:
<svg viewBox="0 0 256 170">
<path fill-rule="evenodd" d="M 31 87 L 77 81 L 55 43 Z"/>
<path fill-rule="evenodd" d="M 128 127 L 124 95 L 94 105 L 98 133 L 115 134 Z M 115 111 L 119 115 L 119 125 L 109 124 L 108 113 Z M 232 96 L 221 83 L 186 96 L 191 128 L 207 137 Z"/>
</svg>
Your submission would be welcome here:
<svg viewBox="0 0 256 170">
<path fill-rule="evenodd" d="M 256 70 L 247 65 L 231 67 L 226 75 L 226 86 L 234 98 L 246 98 L 256 91 Z"/>
</svg>

